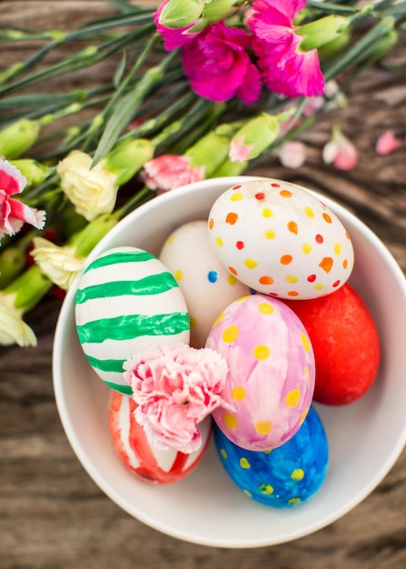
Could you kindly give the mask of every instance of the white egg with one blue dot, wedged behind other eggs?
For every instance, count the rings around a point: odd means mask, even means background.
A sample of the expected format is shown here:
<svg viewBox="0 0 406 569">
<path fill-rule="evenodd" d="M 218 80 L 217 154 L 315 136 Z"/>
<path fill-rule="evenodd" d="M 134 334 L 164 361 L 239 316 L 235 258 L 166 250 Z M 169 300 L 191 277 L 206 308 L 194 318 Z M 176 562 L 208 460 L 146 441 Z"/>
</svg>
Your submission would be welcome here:
<svg viewBox="0 0 406 569">
<path fill-rule="evenodd" d="M 250 289 L 230 275 L 214 254 L 207 220 L 178 227 L 166 239 L 159 258 L 183 292 L 191 323 L 190 344 L 202 348 L 218 314 L 250 294 Z"/>
</svg>

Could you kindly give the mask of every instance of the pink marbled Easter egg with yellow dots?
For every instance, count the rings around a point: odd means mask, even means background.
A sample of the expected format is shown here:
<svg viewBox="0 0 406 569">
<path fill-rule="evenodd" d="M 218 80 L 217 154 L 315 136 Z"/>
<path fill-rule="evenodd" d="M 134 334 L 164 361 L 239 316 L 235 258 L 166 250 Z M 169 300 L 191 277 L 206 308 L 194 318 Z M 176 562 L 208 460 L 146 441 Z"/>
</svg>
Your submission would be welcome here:
<svg viewBox="0 0 406 569">
<path fill-rule="evenodd" d="M 227 306 L 207 347 L 228 364 L 223 400 L 233 406 L 213 419 L 234 444 L 261 451 L 280 446 L 300 428 L 312 404 L 314 355 L 309 336 L 282 301 L 252 294 Z"/>
</svg>

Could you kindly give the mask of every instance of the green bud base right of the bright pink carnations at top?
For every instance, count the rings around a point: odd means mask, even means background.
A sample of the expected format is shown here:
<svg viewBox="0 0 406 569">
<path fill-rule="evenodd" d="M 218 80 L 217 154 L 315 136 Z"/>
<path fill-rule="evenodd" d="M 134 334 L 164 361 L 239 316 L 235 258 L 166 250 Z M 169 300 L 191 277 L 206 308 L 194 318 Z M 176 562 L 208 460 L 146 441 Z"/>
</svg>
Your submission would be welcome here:
<svg viewBox="0 0 406 569">
<path fill-rule="evenodd" d="M 340 15 L 327 15 L 298 26 L 295 31 L 303 38 L 299 45 L 300 51 L 307 52 L 329 44 L 344 32 L 347 25 L 347 18 Z"/>
</svg>

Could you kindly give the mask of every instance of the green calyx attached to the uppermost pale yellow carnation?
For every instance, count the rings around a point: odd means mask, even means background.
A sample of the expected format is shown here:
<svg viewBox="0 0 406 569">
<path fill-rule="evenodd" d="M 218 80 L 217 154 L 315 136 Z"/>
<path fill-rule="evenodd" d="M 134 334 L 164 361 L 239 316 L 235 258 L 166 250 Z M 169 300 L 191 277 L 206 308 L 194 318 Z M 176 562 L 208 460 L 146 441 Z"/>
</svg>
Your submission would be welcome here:
<svg viewBox="0 0 406 569">
<path fill-rule="evenodd" d="M 105 156 L 104 167 L 117 176 L 117 185 L 123 185 L 152 159 L 153 152 L 154 146 L 149 140 L 124 140 Z"/>
</svg>

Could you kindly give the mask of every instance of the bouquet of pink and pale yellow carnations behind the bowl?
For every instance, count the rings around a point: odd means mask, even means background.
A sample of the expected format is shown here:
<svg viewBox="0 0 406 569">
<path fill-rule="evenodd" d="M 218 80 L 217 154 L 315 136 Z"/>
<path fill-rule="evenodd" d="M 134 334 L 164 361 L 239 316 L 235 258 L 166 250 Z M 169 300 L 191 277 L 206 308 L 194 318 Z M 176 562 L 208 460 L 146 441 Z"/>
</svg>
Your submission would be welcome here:
<svg viewBox="0 0 406 569">
<path fill-rule="evenodd" d="M 0 344 L 35 345 L 25 314 L 51 289 L 63 294 L 134 207 L 267 155 L 302 165 L 297 136 L 345 105 L 352 80 L 398 44 L 406 15 L 403 0 L 110 4 L 115 15 L 70 32 L 0 29 L 1 42 L 40 44 L 0 73 Z M 62 44 L 72 55 L 44 65 Z M 44 92 L 108 60 L 110 85 Z M 356 161 L 337 125 L 323 157 Z"/>
</svg>

